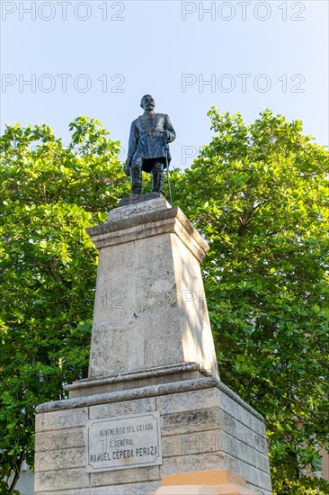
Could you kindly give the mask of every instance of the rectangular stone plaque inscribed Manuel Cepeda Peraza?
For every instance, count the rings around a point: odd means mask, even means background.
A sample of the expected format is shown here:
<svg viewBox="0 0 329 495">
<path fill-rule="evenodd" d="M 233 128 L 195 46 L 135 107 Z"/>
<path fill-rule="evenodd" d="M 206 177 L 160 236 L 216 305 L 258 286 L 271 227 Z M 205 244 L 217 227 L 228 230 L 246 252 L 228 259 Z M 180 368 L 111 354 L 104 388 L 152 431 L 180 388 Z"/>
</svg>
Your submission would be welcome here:
<svg viewBox="0 0 329 495">
<path fill-rule="evenodd" d="M 160 413 L 93 419 L 87 428 L 87 473 L 162 464 Z"/>
</svg>

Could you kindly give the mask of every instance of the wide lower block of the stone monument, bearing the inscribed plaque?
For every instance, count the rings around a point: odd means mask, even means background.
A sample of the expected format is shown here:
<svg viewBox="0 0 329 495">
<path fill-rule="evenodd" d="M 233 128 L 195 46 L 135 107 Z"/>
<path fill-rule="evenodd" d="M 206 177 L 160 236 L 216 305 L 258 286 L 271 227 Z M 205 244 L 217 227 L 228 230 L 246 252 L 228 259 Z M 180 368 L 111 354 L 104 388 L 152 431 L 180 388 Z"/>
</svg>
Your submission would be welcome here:
<svg viewBox="0 0 329 495">
<path fill-rule="evenodd" d="M 75 397 L 41 404 L 35 493 L 146 495 L 170 474 L 227 469 L 270 495 L 262 416 L 190 365 L 181 381 L 112 392 L 93 383 L 89 394 L 82 381 Z"/>
</svg>

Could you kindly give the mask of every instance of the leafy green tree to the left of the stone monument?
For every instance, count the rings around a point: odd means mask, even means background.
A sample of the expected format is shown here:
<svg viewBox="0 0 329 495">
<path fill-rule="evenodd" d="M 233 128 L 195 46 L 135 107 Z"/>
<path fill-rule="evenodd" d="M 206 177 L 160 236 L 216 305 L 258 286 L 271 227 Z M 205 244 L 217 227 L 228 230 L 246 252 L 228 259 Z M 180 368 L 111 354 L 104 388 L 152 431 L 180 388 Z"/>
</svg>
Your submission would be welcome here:
<svg viewBox="0 0 329 495">
<path fill-rule="evenodd" d="M 119 143 L 100 122 L 69 129 L 68 147 L 46 125 L 8 126 L 0 139 L 2 493 L 23 459 L 33 464 L 35 407 L 86 374 L 97 253 L 84 229 L 127 193 Z"/>
</svg>

